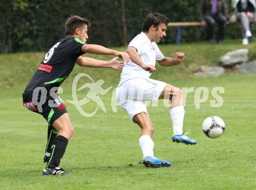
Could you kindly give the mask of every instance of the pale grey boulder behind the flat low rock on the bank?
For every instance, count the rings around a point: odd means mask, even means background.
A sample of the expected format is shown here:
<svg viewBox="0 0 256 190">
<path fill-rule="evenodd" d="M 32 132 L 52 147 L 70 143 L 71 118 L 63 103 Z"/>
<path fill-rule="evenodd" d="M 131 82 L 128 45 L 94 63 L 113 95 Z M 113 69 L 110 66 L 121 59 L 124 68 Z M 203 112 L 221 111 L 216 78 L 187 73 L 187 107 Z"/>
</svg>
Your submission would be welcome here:
<svg viewBox="0 0 256 190">
<path fill-rule="evenodd" d="M 229 67 L 239 63 L 245 63 L 248 60 L 248 49 L 238 49 L 233 52 L 227 52 L 220 60 L 223 67 Z"/>
</svg>

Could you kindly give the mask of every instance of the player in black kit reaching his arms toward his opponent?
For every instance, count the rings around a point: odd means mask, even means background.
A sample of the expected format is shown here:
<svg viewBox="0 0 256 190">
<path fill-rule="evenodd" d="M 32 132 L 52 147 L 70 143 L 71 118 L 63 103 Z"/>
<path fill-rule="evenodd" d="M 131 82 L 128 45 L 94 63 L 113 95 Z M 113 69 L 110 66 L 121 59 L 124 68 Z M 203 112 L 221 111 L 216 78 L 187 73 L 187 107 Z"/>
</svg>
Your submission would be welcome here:
<svg viewBox="0 0 256 190">
<path fill-rule="evenodd" d="M 67 19 L 66 37 L 58 41 L 45 55 L 23 93 L 24 107 L 41 114 L 48 122 L 48 141 L 44 156 L 47 166 L 42 171 L 42 175 L 45 176 L 69 174 L 61 169 L 59 164 L 65 153 L 67 142 L 73 136 L 74 129 L 65 104 L 56 92 L 73 70 L 74 64 L 79 64 L 81 67 L 106 67 L 122 70 L 123 62 L 118 61 L 118 57 L 129 61 L 129 55 L 126 52 L 86 44 L 89 26 L 90 21 L 79 16 Z M 118 57 L 109 61 L 101 61 L 81 57 L 84 53 L 110 54 Z"/>
</svg>

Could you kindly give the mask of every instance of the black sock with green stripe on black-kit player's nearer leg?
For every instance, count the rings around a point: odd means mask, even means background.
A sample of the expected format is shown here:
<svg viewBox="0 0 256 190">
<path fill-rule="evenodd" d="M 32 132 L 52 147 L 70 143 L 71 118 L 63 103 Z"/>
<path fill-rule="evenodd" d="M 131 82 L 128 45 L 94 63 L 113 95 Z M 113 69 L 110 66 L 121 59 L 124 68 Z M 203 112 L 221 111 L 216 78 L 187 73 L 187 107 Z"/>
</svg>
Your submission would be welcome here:
<svg viewBox="0 0 256 190">
<path fill-rule="evenodd" d="M 51 170 L 59 166 L 62 156 L 66 151 L 67 142 L 69 142 L 69 140 L 63 136 L 58 135 L 55 137 L 51 146 L 51 158 L 46 166 L 47 170 Z"/>
</svg>

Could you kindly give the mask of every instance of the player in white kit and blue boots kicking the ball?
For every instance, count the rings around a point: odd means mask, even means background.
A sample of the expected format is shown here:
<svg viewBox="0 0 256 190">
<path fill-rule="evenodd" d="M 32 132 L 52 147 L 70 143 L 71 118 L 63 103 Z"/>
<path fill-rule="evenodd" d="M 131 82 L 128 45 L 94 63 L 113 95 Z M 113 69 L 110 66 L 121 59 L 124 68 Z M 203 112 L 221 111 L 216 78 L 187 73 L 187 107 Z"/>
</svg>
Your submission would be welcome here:
<svg viewBox="0 0 256 190">
<path fill-rule="evenodd" d="M 175 58 L 165 57 L 157 46 L 166 36 L 168 22 L 167 17 L 160 13 L 150 13 L 145 17 L 143 32 L 129 43 L 127 52 L 130 61 L 125 64 L 116 89 L 118 103 L 141 128 L 139 144 L 144 156 L 143 163 L 147 167 L 169 167 L 171 163 L 154 156 L 152 136 L 155 128 L 148 115 L 145 100 L 172 100 L 170 118 L 173 125 L 173 142 L 197 143 L 183 133 L 182 90 L 168 83 L 150 79 L 150 75 L 155 71 L 155 60 L 160 65 L 169 67 L 181 63 L 184 59 L 184 53 L 180 52 L 176 53 Z"/>
</svg>

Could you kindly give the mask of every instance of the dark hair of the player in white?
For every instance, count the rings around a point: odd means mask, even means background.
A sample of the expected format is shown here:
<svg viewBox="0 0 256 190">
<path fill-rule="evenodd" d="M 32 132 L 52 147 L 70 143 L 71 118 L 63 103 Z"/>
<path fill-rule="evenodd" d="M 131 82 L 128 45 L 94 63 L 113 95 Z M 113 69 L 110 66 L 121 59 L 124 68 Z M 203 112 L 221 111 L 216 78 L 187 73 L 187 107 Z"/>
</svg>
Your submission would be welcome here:
<svg viewBox="0 0 256 190">
<path fill-rule="evenodd" d="M 158 28 L 159 24 L 165 23 L 168 25 L 169 19 L 164 15 L 160 13 L 150 13 L 148 14 L 143 22 L 143 32 L 148 32 L 150 30 L 151 25 L 155 25 L 155 27 Z"/>
</svg>

